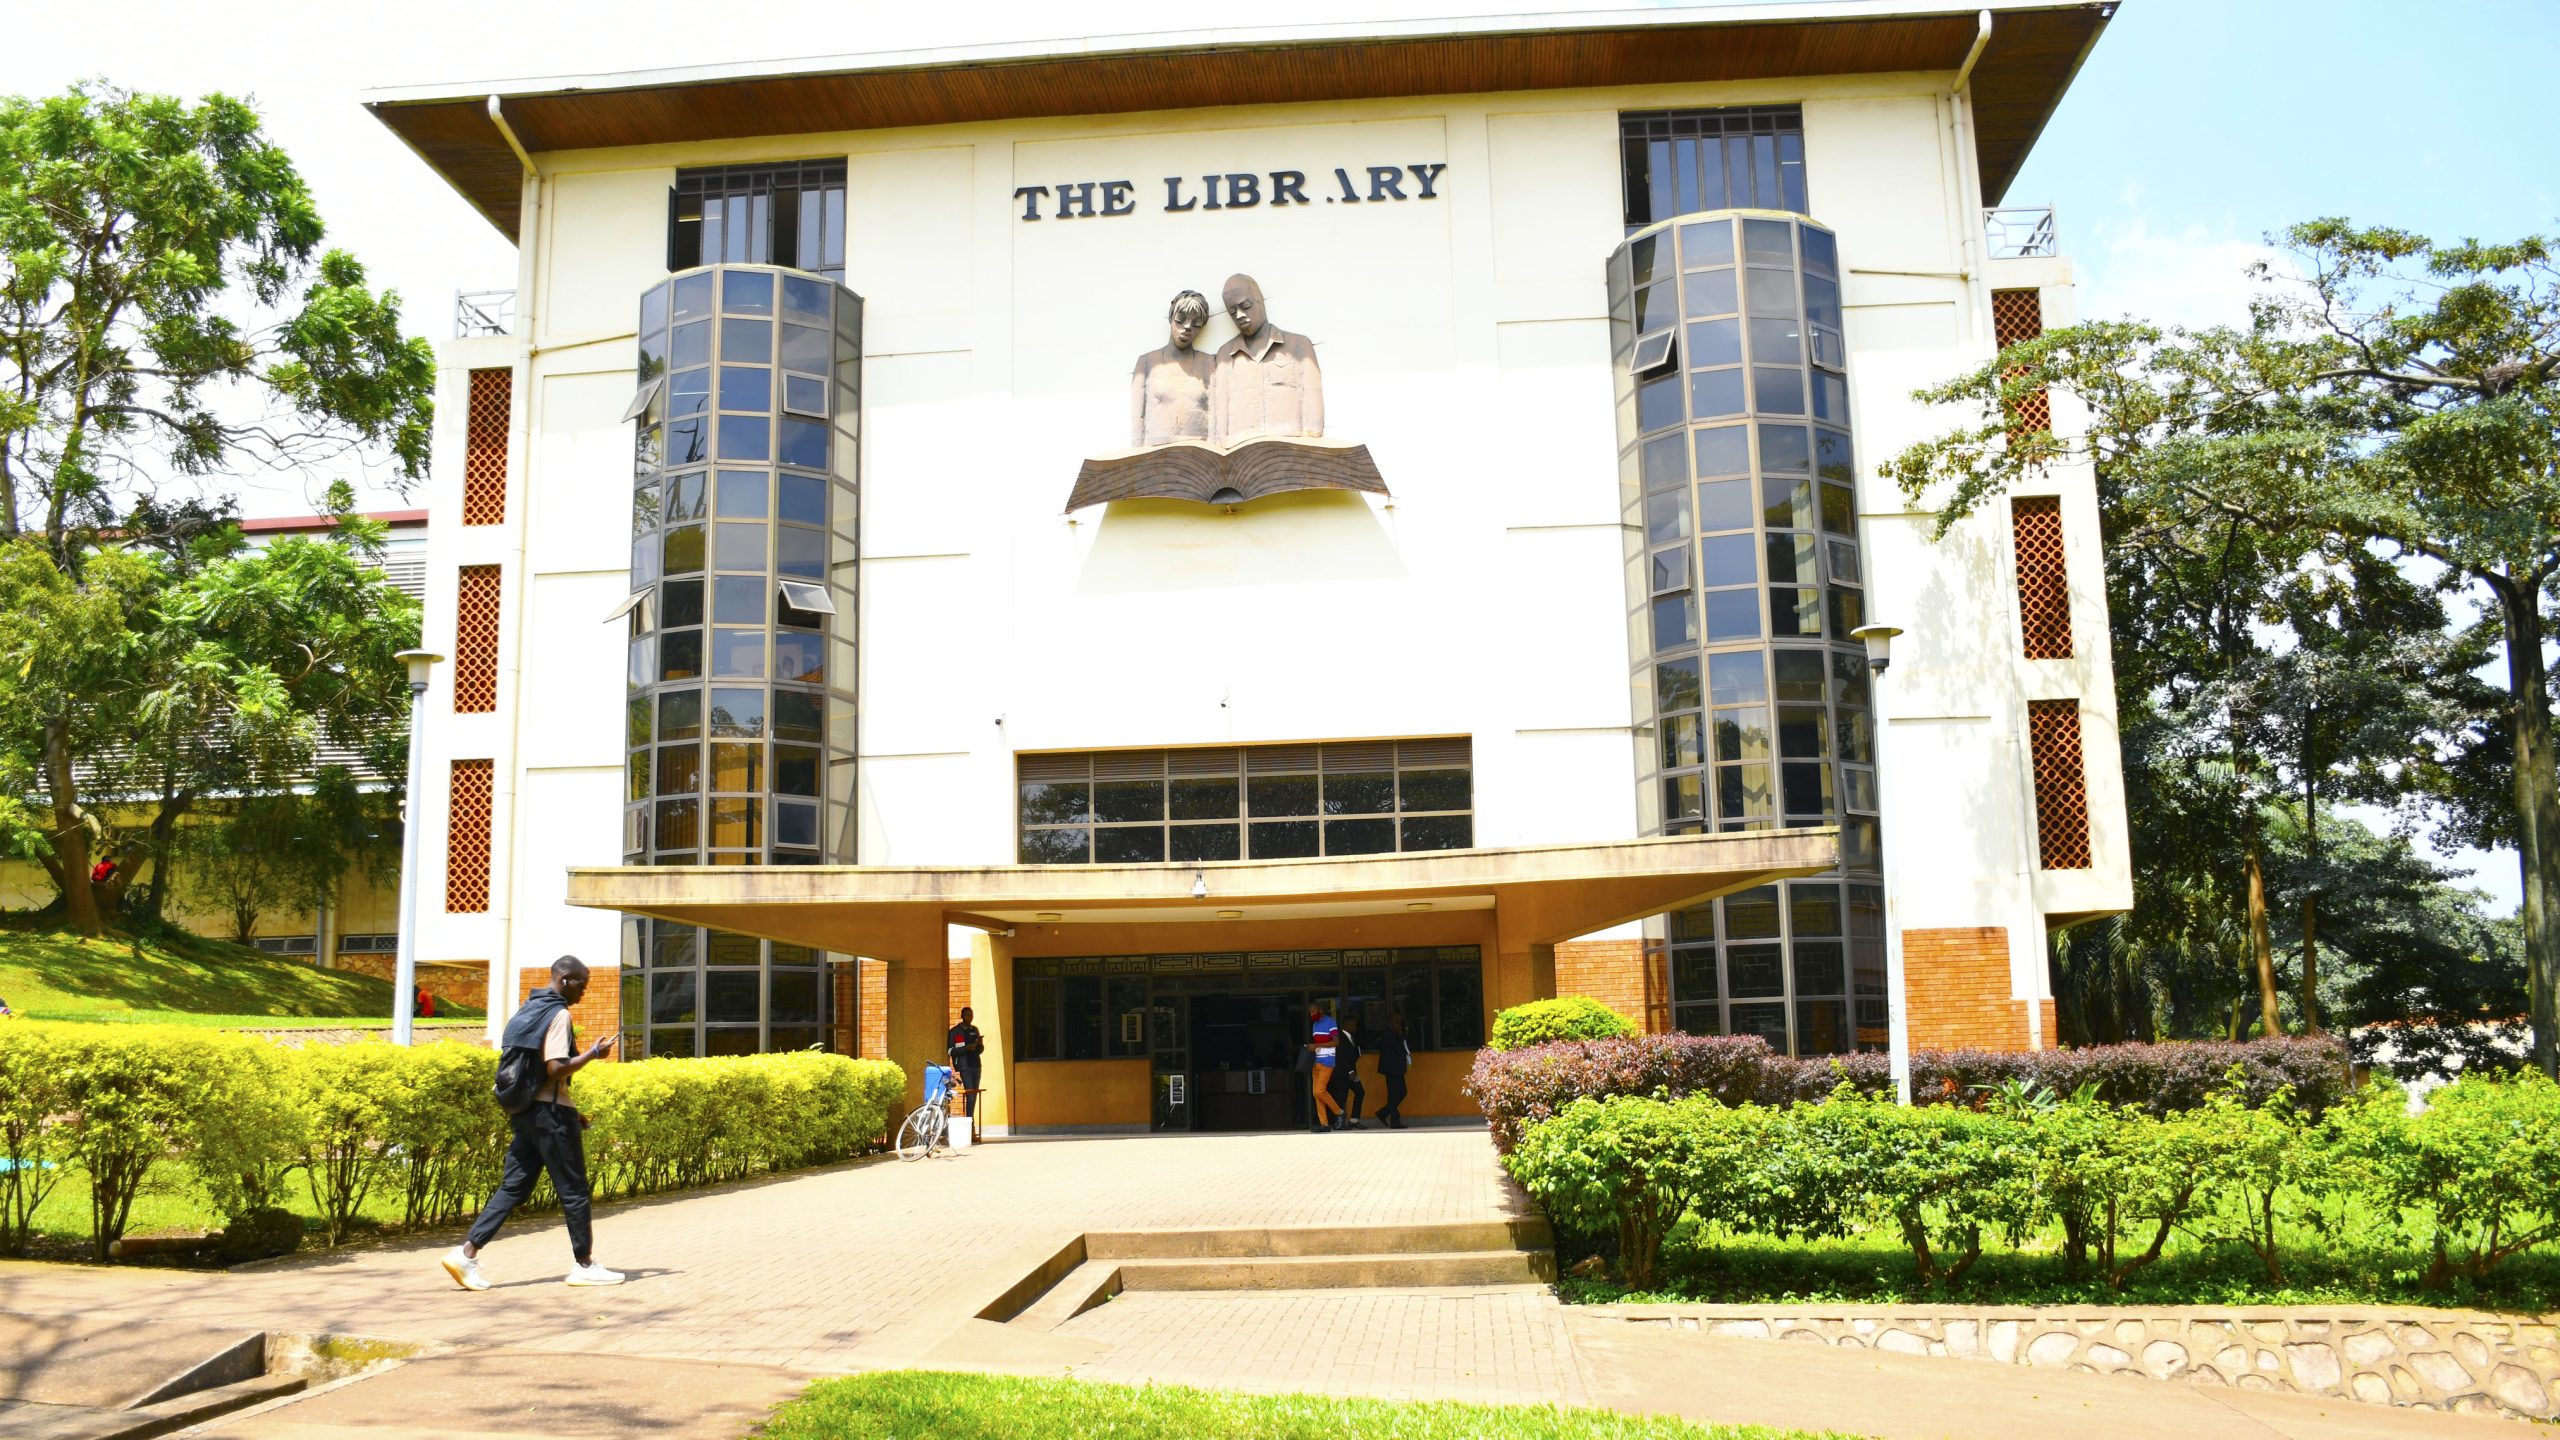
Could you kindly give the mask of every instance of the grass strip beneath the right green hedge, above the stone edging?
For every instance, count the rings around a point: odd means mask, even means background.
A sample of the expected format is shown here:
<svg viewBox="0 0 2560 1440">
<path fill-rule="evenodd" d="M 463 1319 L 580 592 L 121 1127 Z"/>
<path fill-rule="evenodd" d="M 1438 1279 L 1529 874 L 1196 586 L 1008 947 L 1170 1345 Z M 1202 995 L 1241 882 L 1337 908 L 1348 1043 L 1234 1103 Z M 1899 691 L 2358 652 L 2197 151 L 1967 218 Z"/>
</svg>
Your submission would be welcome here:
<svg viewBox="0 0 2560 1440">
<path fill-rule="evenodd" d="M 2122 1258 L 2150 1245 L 2150 1232 L 2120 1240 Z M 2271 1284 L 2258 1256 L 2235 1243 L 2173 1235 L 2158 1263 L 2132 1273 L 2122 1291 L 2104 1279 L 2063 1279 L 2061 1227 L 2020 1250 L 1984 1243 L 1981 1261 L 1953 1289 L 1917 1281 L 1900 1235 L 1869 1232 L 1841 1240 L 1772 1240 L 1766 1235 L 1702 1232 L 1684 1220 L 1661 1248 L 1664 1284 L 1628 1291 L 1615 1281 L 1564 1276 L 1569 1302 L 1710 1302 L 1710 1304 L 2435 1304 L 2476 1309 L 2560 1309 L 2560 1245 L 2527 1250 L 2501 1263 L 2488 1284 L 2422 1286 L 2424 1232 L 2358 1204 L 2332 1207 L 2317 1225 L 2286 1230 L 2284 1284 Z M 1562 1261 L 1574 1263 L 1567 1238 Z M 1948 1256 L 1940 1253 L 1940 1261 Z"/>
</svg>

